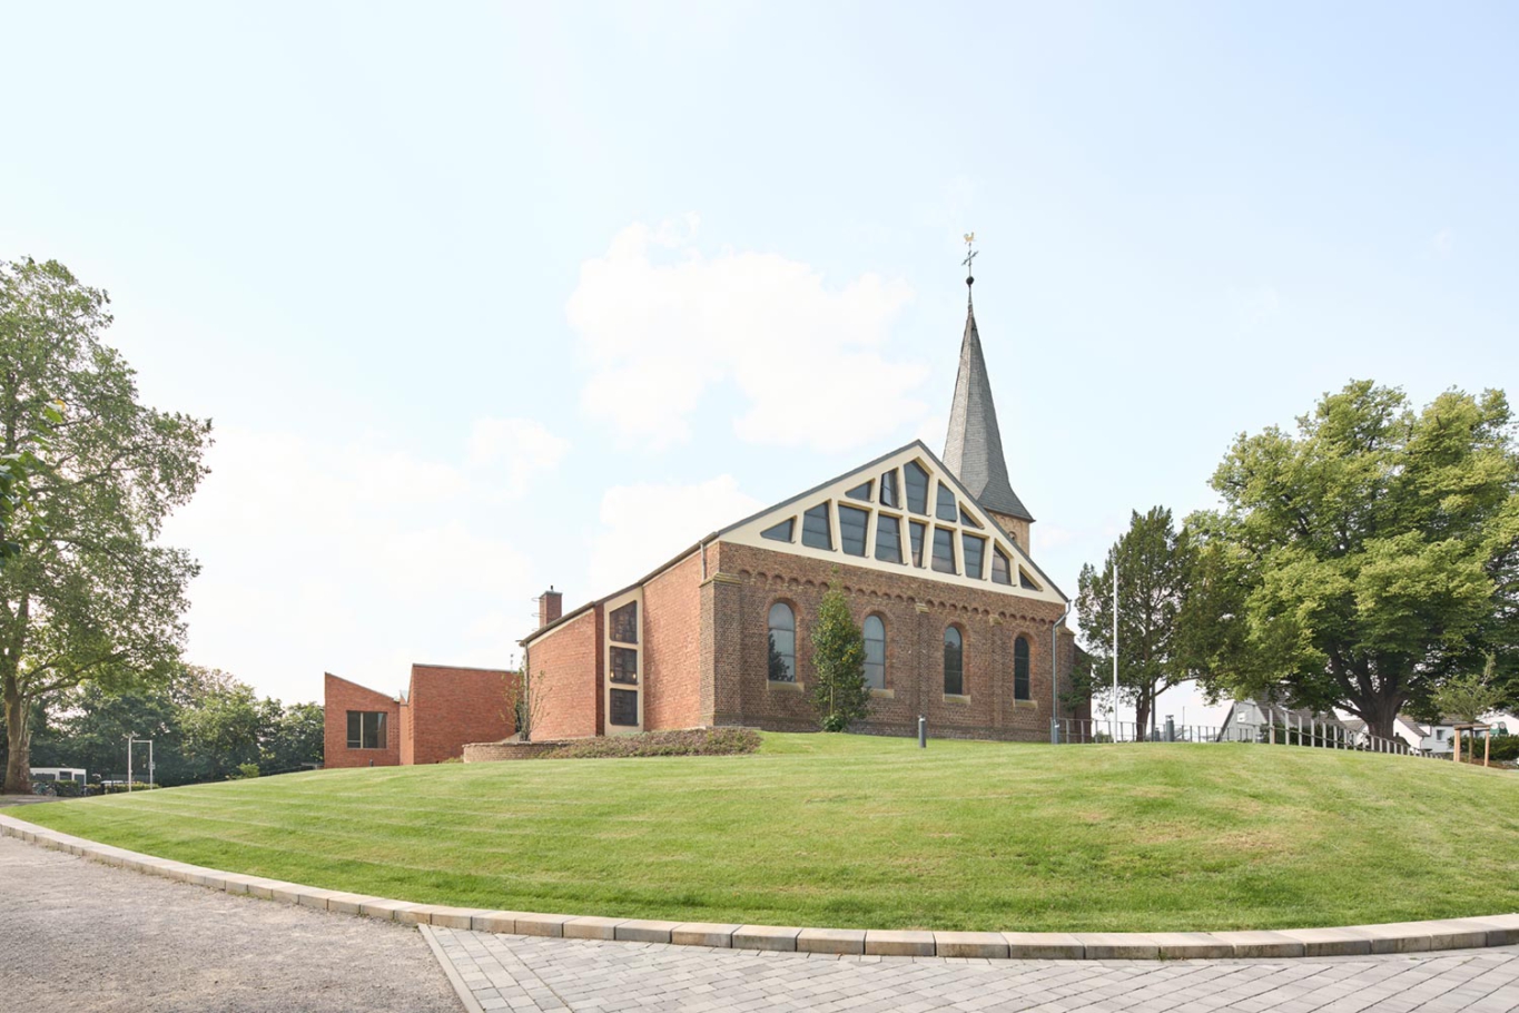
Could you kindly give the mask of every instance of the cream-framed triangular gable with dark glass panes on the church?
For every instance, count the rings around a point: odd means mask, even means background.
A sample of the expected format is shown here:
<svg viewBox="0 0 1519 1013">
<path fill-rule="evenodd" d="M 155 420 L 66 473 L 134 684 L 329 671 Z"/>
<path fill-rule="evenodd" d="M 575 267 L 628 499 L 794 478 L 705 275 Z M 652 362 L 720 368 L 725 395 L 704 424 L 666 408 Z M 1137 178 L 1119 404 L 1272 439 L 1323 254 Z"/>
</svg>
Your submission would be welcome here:
<svg viewBox="0 0 1519 1013">
<path fill-rule="evenodd" d="M 921 440 L 723 529 L 717 541 L 1066 603 Z"/>
</svg>

